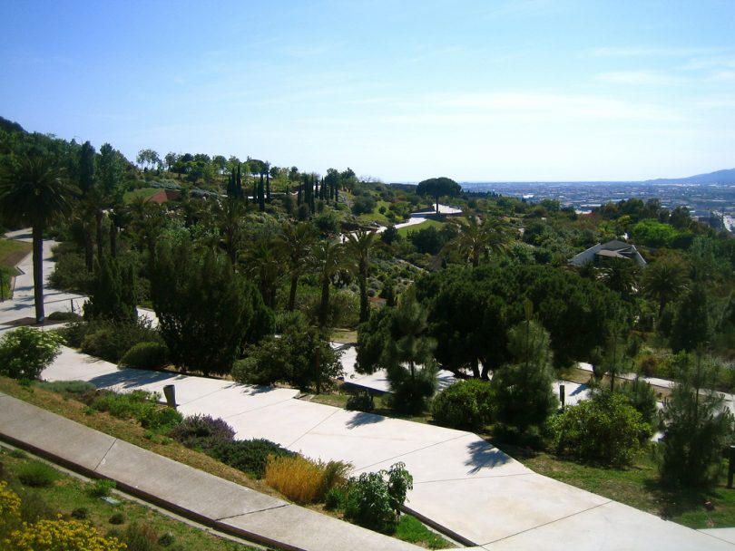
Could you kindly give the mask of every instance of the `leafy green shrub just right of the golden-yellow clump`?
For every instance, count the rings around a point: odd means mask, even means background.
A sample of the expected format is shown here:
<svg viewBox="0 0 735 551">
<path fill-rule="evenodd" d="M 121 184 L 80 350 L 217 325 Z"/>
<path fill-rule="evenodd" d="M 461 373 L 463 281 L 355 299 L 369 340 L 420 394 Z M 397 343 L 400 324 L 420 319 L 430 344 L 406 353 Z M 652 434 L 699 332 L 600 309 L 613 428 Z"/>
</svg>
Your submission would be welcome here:
<svg viewBox="0 0 735 551">
<path fill-rule="evenodd" d="M 411 488 L 413 477 L 403 463 L 350 478 L 345 517 L 361 526 L 384 531 L 396 521 Z"/>
</svg>

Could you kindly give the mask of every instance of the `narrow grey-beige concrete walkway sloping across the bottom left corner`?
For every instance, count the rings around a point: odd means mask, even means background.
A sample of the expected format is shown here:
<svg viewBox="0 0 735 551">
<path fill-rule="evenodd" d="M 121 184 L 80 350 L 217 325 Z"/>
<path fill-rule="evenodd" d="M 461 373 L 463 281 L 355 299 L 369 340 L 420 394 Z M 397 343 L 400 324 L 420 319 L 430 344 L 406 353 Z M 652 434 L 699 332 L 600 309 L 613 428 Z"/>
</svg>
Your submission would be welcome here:
<svg viewBox="0 0 735 551">
<path fill-rule="evenodd" d="M 419 547 L 271 498 L 0 393 L 0 438 L 184 517 L 304 551 Z"/>
</svg>

